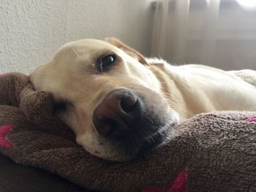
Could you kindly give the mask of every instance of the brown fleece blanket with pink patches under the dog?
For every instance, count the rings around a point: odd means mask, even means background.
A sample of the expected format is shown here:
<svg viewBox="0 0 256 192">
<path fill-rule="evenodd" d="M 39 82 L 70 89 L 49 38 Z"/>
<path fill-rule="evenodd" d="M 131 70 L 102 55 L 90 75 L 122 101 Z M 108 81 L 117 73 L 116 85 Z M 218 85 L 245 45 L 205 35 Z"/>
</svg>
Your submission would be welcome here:
<svg viewBox="0 0 256 192">
<path fill-rule="evenodd" d="M 146 158 L 104 161 L 52 115 L 50 93 L 24 74 L 0 77 L 0 152 L 100 191 L 256 191 L 256 112 L 197 115 Z"/>
</svg>

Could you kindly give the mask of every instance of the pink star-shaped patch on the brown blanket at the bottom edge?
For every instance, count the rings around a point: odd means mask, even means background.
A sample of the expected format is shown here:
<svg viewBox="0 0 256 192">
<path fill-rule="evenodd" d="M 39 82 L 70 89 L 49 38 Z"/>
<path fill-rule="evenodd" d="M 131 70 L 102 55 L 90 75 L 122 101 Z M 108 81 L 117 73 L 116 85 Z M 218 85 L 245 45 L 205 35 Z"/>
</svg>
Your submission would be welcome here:
<svg viewBox="0 0 256 192">
<path fill-rule="evenodd" d="M 167 191 L 145 188 L 143 192 L 187 192 L 187 172 L 180 172 Z"/>
</svg>

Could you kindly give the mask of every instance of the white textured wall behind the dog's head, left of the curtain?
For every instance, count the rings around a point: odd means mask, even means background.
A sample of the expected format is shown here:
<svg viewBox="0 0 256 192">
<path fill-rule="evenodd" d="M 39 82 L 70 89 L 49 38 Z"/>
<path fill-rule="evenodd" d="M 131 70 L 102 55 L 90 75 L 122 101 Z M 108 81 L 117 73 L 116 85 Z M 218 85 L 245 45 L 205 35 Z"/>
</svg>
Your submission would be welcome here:
<svg viewBox="0 0 256 192">
<path fill-rule="evenodd" d="M 1 0 L 0 72 L 31 72 L 66 42 L 118 37 L 150 51 L 148 0 Z"/>
</svg>

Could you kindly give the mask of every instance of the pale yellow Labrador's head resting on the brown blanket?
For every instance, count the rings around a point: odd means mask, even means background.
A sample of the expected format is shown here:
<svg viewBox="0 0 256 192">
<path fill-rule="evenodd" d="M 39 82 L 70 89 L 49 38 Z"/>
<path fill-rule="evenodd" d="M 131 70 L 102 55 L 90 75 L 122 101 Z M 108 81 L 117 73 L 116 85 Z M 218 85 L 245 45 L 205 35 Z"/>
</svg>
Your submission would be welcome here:
<svg viewBox="0 0 256 192">
<path fill-rule="evenodd" d="M 176 112 L 143 55 L 117 39 L 83 39 L 61 47 L 30 75 L 54 97 L 54 112 L 78 144 L 112 161 L 127 161 L 170 137 Z"/>
</svg>

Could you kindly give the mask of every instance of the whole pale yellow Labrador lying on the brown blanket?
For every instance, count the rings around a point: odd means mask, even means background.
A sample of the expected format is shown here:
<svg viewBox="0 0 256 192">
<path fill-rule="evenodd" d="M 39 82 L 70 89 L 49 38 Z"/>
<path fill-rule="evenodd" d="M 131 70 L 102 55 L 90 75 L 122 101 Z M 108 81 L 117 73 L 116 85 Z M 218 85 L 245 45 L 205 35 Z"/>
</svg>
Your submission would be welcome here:
<svg viewBox="0 0 256 192">
<path fill-rule="evenodd" d="M 114 38 L 69 42 L 29 77 L 35 90 L 53 94 L 53 112 L 78 144 L 109 161 L 158 149 L 199 113 L 256 111 L 255 71 L 173 66 Z"/>
</svg>

